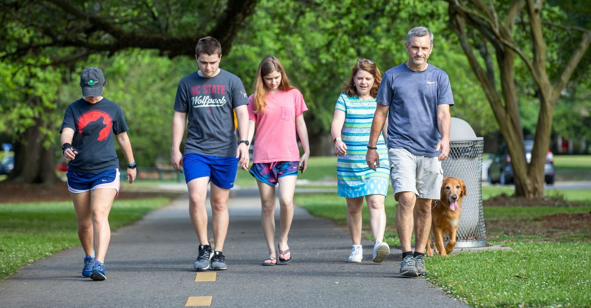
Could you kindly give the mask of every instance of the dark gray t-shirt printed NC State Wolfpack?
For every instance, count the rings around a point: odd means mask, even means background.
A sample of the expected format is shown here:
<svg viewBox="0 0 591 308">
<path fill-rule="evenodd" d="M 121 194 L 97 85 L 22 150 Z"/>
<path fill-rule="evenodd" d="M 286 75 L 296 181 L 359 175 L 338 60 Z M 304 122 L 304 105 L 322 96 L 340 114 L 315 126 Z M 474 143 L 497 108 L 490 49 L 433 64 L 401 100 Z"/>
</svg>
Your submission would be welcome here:
<svg viewBox="0 0 591 308">
<path fill-rule="evenodd" d="M 235 156 L 233 109 L 246 104 L 246 90 L 235 74 L 220 69 L 209 78 L 197 72 L 184 76 L 174 100 L 174 110 L 186 112 L 189 119 L 184 154 Z"/>
</svg>

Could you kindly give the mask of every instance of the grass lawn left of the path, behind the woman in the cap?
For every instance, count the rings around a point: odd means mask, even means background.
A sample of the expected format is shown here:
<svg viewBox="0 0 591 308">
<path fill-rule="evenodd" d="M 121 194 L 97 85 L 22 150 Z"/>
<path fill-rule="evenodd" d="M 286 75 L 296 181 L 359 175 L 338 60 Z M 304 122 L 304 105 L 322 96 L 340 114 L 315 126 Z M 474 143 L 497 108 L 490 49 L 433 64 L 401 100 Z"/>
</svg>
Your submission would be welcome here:
<svg viewBox="0 0 591 308">
<path fill-rule="evenodd" d="M 115 200 L 109 214 L 111 229 L 137 221 L 168 202 L 167 197 Z M 0 217 L 0 280 L 35 260 L 80 245 L 72 202 L 0 203 Z"/>
</svg>

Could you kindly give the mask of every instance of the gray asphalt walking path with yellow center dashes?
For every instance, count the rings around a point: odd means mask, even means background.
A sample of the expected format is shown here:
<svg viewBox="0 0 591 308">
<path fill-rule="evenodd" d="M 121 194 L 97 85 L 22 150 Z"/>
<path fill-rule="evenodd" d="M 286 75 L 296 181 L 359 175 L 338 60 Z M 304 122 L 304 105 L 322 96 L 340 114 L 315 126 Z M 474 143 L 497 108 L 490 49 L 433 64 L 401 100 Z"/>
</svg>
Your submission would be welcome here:
<svg viewBox="0 0 591 308">
<path fill-rule="evenodd" d="M 365 260 L 347 263 L 348 232 L 299 208 L 289 241 L 294 261 L 262 267 L 268 252 L 256 190 L 230 197 L 224 249 L 228 270 L 196 276 L 197 238 L 187 208 L 184 194 L 113 232 L 106 281 L 80 277 L 84 252 L 77 247 L 1 281 L 0 306 L 183 307 L 194 302 L 212 307 L 467 307 L 423 278 L 399 277 L 400 251 L 376 264 L 371 262 L 371 242 L 364 241 Z"/>
</svg>

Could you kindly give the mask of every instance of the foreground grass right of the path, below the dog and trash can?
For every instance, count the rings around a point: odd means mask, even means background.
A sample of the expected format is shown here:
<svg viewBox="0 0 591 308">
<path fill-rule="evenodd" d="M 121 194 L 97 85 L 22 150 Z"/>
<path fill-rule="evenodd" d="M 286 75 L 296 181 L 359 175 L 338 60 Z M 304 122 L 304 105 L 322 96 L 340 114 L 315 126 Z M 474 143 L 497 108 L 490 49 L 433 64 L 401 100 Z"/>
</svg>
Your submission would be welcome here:
<svg viewBox="0 0 591 308">
<path fill-rule="evenodd" d="M 475 307 L 590 306 L 588 241 L 495 244 L 513 250 L 428 258 L 427 280 Z"/>
</svg>

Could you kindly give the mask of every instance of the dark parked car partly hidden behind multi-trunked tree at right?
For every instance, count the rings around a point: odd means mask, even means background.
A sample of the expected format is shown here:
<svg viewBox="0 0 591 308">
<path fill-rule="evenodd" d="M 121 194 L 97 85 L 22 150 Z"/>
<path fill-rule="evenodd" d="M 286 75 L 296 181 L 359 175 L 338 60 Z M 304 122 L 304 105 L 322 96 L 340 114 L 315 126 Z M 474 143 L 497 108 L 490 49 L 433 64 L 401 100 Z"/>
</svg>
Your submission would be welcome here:
<svg viewBox="0 0 591 308">
<path fill-rule="evenodd" d="M 531 161 L 531 150 L 534 148 L 533 140 L 525 140 L 525 159 L 528 163 Z M 546 184 L 554 184 L 556 169 L 554 168 L 554 154 L 550 150 L 546 153 L 546 163 L 544 164 L 544 180 Z M 511 157 L 507 151 L 506 144 L 501 144 L 499 151 L 492 159 L 491 166 L 488 168 L 488 181 L 491 184 L 511 184 L 514 181 L 513 167 L 511 166 Z"/>
</svg>

